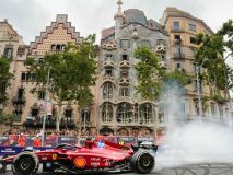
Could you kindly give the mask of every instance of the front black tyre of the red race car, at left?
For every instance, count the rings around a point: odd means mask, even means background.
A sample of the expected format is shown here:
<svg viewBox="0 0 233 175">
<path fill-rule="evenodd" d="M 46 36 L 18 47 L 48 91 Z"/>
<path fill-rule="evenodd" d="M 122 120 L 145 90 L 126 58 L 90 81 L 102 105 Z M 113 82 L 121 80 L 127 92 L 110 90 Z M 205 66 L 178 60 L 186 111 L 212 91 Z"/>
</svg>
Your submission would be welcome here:
<svg viewBox="0 0 233 175">
<path fill-rule="evenodd" d="M 14 175 L 34 175 L 38 171 L 39 160 L 33 152 L 18 154 L 11 165 Z"/>
</svg>

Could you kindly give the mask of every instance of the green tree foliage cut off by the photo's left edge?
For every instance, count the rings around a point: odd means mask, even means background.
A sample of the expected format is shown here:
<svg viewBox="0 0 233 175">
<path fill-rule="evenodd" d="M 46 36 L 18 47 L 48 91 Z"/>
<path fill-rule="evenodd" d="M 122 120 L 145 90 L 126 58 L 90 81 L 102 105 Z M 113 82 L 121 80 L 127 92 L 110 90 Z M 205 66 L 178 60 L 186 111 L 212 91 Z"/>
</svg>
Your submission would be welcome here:
<svg viewBox="0 0 233 175">
<path fill-rule="evenodd" d="M 7 88 L 10 85 L 10 80 L 13 74 L 9 72 L 10 60 L 7 58 L 0 58 L 0 103 L 4 103 L 8 98 L 5 92 Z"/>
</svg>

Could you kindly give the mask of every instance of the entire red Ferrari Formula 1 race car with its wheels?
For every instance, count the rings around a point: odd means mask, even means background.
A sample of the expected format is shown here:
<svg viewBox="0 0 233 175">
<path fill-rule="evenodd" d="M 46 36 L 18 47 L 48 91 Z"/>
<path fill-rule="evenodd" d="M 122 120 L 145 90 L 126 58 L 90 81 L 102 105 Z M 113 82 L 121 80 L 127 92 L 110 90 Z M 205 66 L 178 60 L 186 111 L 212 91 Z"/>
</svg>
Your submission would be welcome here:
<svg viewBox="0 0 233 175">
<path fill-rule="evenodd" d="M 0 160 L 0 172 L 11 164 L 14 175 L 34 175 L 39 164 L 43 173 L 150 173 L 155 164 L 155 145 L 126 147 L 103 140 L 86 140 L 84 147 L 60 144 L 47 151 L 24 149 L 16 155 Z"/>
</svg>

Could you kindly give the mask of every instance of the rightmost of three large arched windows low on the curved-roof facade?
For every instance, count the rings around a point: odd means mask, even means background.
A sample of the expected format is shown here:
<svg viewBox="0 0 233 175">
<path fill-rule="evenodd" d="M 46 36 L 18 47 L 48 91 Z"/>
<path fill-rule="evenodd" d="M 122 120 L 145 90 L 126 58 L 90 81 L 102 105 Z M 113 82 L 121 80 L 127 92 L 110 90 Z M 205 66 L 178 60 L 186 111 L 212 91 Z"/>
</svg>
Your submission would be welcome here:
<svg viewBox="0 0 233 175">
<path fill-rule="evenodd" d="M 142 104 L 140 106 L 140 122 L 149 124 L 153 121 L 152 105 L 150 103 Z"/>
</svg>

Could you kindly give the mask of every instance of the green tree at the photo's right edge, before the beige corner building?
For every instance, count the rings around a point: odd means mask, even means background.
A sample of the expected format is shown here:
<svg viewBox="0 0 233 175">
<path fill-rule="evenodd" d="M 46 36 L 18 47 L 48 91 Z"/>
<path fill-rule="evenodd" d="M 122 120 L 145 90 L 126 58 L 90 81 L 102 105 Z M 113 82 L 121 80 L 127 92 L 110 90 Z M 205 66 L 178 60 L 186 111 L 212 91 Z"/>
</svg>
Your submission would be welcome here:
<svg viewBox="0 0 233 175">
<path fill-rule="evenodd" d="M 196 51 L 195 61 L 198 65 L 203 62 L 203 68 L 207 69 L 206 80 L 217 88 L 217 94 L 219 90 L 229 92 L 229 89 L 233 86 L 233 70 L 225 60 L 233 56 L 232 20 L 223 23 L 217 34 L 198 34 L 197 44 L 200 47 Z"/>
</svg>

